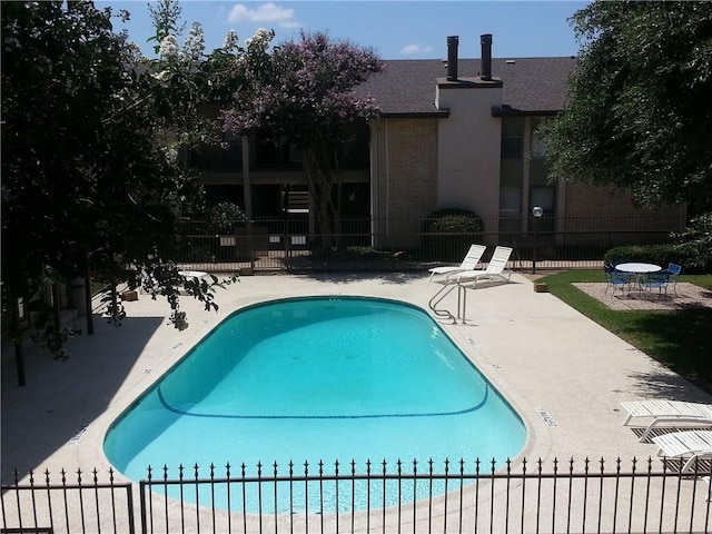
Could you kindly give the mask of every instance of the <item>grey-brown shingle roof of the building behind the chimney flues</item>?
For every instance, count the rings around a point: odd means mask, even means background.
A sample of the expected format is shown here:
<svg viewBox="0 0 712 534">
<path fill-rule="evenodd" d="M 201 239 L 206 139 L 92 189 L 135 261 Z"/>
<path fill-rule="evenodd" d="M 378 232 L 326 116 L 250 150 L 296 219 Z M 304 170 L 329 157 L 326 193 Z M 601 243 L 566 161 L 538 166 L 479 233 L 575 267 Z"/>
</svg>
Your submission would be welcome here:
<svg viewBox="0 0 712 534">
<path fill-rule="evenodd" d="M 387 60 L 383 72 L 358 87 L 359 93 L 376 98 L 384 115 L 436 113 L 437 78 L 446 78 L 446 63 L 439 59 Z M 492 76 L 503 82 L 502 103 L 521 112 L 552 112 L 562 109 L 567 78 L 575 58 L 493 59 Z M 459 78 L 479 73 L 478 59 L 459 59 Z"/>
</svg>

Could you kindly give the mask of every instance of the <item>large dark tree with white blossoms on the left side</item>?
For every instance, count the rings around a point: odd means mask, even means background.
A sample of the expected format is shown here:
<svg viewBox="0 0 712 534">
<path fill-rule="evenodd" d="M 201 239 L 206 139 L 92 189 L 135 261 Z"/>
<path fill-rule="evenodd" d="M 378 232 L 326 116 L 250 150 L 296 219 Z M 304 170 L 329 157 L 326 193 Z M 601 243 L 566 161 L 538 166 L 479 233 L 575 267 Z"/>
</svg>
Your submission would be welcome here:
<svg viewBox="0 0 712 534">
<path fill-rule="evenodd" d="M 191 120 L 209 98 L 199 28 L 186 53 L 149 61 L 111 18 L 91 2 L 2 7 L 3 318 L 47 279 L 145 271 L 185 327 L 170 259 L 182 216 L 200 200 L 177 157 L 206 131 Z M 217 307 L 207 284 L 187 287 Z M 18 342 L 19 323 L 9 325 Z M 53 328 L 61 355 L 58 320 Z"/>
</svg>

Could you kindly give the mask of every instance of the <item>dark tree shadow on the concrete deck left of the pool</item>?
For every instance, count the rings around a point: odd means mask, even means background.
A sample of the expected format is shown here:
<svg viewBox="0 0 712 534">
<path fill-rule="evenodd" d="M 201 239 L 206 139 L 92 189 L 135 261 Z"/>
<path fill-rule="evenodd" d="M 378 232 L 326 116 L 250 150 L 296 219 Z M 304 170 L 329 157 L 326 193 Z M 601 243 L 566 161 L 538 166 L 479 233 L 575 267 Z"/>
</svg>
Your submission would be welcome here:
<svg viewBox="0 0 712 534">
<path fill-rule="evenodd" d="M 24 348 L 26 385 L 6 354 L 2 364 L 2 482 L 34 469 L 102 414 L 136 365 L 162 317 L 127 317 L 121 326 L 95 316 L 95 334 L 67 342 L 70 357 L 56 360 L 47 349 Z M 12 349 L 3 344 L 3 353 Z M 169 347 L 167 347 L 168 349 Z M 66 466 L 71 468 L 71 466 Z"/>
</svg>

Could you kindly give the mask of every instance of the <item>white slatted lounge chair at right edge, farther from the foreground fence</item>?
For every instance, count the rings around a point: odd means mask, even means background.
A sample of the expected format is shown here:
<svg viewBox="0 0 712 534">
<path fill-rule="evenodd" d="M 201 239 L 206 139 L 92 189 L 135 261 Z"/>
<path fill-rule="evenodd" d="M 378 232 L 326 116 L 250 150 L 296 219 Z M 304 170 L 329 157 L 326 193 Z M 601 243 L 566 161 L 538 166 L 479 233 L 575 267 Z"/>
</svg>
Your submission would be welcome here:
<svg viewBox="0 0 712 534">
<path fill-rule="evenodd" d="M 645 431 L 641 434 L 641 442 L 645 442 L 652 431 L 659 426 L 678 426 L 681 423 L 712 426 L 712 404 L 650 399 L 621 403 L 621 406 L 627 412 L 624 425 L 637 417 L 652 419 L 646 423 Z"/>
</svg>

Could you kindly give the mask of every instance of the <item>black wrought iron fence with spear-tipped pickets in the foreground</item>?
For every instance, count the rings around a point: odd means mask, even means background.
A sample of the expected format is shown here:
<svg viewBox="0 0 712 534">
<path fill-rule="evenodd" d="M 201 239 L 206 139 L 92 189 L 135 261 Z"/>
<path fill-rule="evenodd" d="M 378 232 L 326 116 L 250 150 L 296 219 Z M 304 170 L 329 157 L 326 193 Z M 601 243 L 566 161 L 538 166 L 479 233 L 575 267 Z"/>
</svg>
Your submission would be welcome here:
<svg viewBox="0 0 712 534">
<path fill-rule="evenodd" d="M 1 532 L 705 533 L 710 476 L 619 458 L 481 463 L 229 464 L 150 469 L 130 483 L 2 486 Z M 140 521 L 134 522 L 134 511 Z"/>
</svg>

